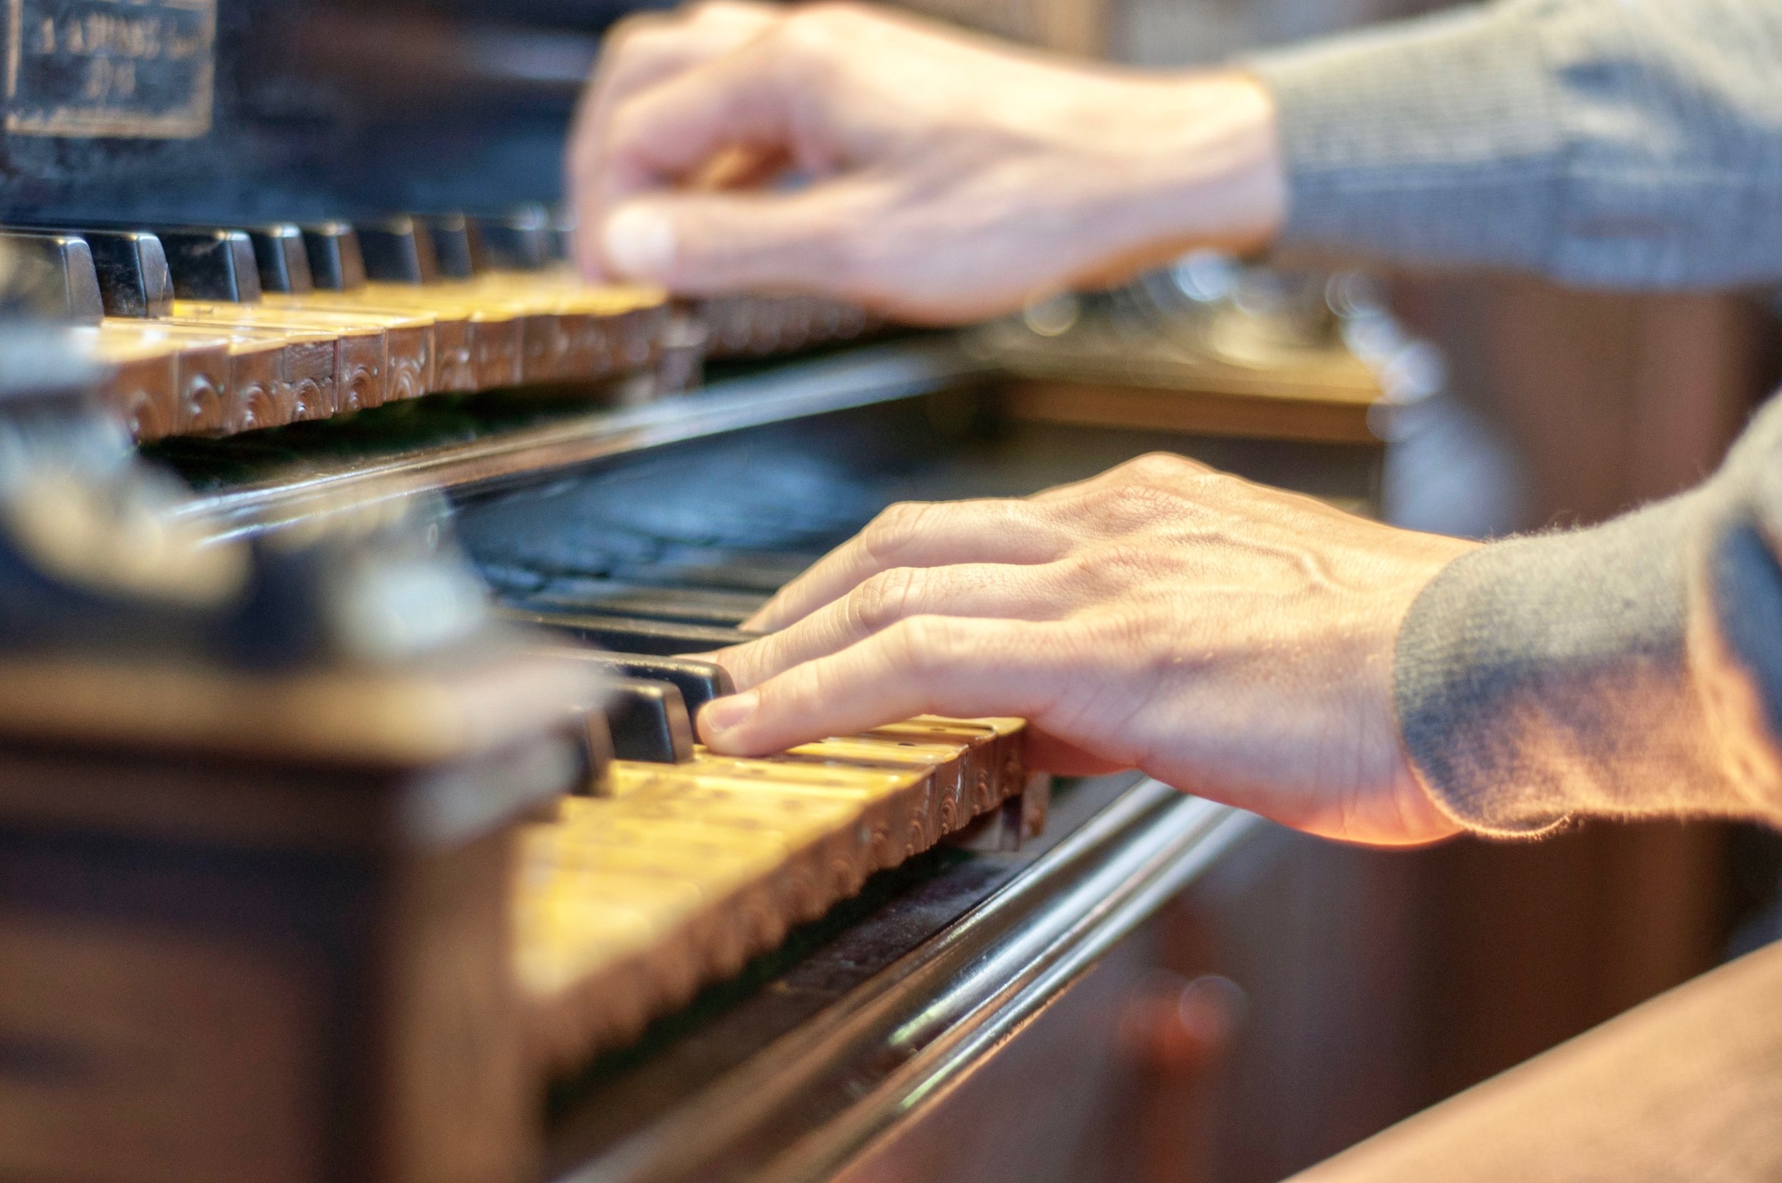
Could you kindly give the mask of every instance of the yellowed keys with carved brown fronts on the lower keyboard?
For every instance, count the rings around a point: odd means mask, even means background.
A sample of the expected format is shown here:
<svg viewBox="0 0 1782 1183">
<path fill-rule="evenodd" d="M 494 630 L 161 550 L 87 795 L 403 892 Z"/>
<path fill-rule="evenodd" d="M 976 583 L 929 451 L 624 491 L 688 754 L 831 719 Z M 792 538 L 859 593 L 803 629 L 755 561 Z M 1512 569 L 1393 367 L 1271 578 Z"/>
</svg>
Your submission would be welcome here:
<svg viewBox="0 0 1782 1183">
<path fill-rule="evenodd" d="M 873 871 L 1026 787 L 1019 720 L 921 716 L 781 755 L 613 761 L 522 837 L 519 980 L 536 1058 L 586 1064 L 734 975 Z"/>
</svg>

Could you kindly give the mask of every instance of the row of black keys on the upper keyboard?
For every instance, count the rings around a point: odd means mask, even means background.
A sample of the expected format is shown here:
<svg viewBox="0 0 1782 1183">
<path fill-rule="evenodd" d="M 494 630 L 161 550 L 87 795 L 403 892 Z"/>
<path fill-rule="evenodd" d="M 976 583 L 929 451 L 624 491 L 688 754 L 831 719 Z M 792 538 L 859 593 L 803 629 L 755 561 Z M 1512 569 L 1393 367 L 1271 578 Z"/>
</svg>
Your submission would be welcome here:
<svg viewBox="0 0 1782 1183">
<path fill-rule="evenodd" d="M 262 292 L 339 292 L 367 280 L 435 283 L 485 271 L 542 271 L 570 249 L 568 226 L 542 208 L 249 228 L 0 226 L 0 237 L 66 278 L 57 312 L 80 322 L 102 314 L 168 315 L 176 298 L 253 303 Z M 89 255 L 93 265 L 75 255 Z M 93 273 L 96 290 L 84 278 Z"/>
</svg>

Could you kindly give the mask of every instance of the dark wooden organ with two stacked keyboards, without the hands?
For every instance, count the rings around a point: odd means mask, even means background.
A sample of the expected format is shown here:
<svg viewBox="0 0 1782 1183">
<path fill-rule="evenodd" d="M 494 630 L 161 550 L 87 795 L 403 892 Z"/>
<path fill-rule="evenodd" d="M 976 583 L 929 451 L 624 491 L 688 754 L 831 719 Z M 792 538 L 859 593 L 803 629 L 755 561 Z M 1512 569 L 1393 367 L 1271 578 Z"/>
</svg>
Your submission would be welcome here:
<svg viewBox="0 0 1782 1183">
<path fill-rule="evenodd" d="M 1169 445 L 1365 506 L 1377 385 L 1322 294 L 1287 360 L 1110 385 L 1032 317 L 583 283 L 620 14 L 7 0 L 0 1176 L 1124 1171 L 991 1081 L 1249 820 L 1051 800 L 1018 720 L 720 759 L 684 654 L 898 497 Z"/>
</svg>

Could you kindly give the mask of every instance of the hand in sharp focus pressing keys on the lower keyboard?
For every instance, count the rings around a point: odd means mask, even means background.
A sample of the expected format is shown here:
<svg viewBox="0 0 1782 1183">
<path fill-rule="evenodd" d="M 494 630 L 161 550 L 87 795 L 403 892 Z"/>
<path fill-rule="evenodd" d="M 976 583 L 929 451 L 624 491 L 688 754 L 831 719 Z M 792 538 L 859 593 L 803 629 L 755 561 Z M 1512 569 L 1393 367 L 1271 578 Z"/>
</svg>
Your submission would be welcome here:
<svg viewBox="0 0 1782 1183">
<path fill-rule="evenodd" d="M 1365 843 L 1459 827 L 1392 707 L 1399 624 L 1475 543 L 1146 456 L 1023 501 L 903 504 L 716 654 L 700 736 L 759 755 L 911 714 L 1030 720 L 1034 764 L 1149 775 Z"/>
</svg>

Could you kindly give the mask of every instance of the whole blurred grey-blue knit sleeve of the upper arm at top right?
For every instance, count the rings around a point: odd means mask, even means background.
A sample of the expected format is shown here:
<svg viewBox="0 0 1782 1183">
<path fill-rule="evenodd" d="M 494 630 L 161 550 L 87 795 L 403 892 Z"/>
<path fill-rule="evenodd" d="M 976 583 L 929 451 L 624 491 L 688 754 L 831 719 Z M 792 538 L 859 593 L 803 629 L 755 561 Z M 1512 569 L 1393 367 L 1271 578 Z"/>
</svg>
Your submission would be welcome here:
<svg viewBox="0 0 1782 1183">
<path fill-rule="evenodd" d="M 1782 280 L 1782 0 L 1502 0 L 1246 64 L 1278 107 L 1283 246 Z"/>
</svg>

